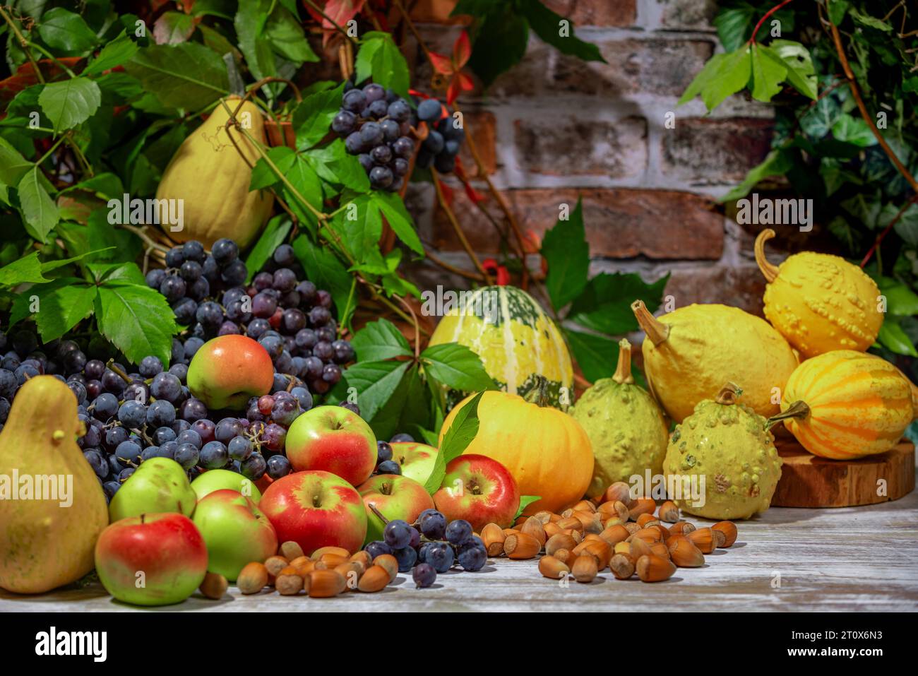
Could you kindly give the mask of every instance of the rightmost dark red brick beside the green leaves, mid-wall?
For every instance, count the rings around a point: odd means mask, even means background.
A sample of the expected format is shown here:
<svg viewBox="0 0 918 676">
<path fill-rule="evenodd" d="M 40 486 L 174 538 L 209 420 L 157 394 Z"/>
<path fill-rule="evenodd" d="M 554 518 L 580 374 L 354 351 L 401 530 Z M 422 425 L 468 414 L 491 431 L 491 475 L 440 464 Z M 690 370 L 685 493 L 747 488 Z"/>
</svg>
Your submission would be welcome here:
<svg viewBox="0 0 918 676">
<path fill-rule="evenodd" d="M 676 118 L 661 130 L 666 175 L 687 181 L 741 181 L 771 149 L 774 123 L 760 118 Z"/>
</svg>

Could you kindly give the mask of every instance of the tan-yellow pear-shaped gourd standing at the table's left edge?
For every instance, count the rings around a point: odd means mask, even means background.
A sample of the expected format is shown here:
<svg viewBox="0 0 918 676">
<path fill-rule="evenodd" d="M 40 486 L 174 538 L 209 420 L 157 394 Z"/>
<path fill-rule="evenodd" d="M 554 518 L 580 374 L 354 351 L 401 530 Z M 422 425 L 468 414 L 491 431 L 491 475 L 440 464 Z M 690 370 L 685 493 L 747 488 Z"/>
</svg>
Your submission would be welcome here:
<svg viewBox="0 0 918 676">
<path fill-rule="evenodd" d="M 76 397 L 56 377 L 29 379 L 13 400 L 0 432 L 0 587 L 8 591 L 49 591 L 95 565 L 108 508 L 76 445 L 81 427 Z"/>
</svg>

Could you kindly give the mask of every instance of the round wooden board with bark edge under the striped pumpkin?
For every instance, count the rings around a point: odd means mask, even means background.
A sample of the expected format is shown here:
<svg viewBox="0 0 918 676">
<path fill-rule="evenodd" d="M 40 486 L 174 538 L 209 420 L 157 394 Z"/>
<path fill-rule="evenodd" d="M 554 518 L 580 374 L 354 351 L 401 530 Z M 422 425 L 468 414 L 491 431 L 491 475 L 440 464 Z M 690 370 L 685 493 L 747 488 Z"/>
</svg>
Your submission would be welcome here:
<svg viewBox="0 0 918 676">
<path fill-rule="evenodd" d="M 784 465 L 772 507 L 877 504 L 899 500 L 915 487 L 915 446 L 907 439 L 879 456 L 857 460 L 813 456 L 796 442 L 776 445 Z"/>
</svg>

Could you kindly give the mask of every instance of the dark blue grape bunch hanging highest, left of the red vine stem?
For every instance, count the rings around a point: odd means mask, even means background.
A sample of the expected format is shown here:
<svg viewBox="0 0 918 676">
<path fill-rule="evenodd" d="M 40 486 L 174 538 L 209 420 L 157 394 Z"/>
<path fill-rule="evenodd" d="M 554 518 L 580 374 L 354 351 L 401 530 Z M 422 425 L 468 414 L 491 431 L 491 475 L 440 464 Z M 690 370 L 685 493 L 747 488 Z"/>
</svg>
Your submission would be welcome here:
<svg viewBox="0 0 918 676">
<path fill-rule="evenodd" d="M 408 100 L 379 84 L 357 88 L 349 82 L 331 130 L 344 139 L 347 152 L 357 155 L 373 189 L 397 192 L 415 150 L 411 121 Z"/>
</svg>

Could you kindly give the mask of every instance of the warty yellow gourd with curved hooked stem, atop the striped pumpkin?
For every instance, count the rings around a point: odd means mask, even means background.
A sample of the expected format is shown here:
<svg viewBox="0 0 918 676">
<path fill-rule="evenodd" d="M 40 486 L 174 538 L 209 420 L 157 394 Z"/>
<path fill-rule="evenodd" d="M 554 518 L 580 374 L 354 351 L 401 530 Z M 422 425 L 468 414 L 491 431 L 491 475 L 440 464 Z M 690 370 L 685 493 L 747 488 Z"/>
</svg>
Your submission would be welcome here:
<svg viewBox="0 0 918 676">
<path fill-rule="evenodd" d="M 765 242 L 775 231 L 756 237 L 756 263 L 768 281 L 765 316 L 804 357 L 830 350 L 863 352 L 883 323 L 879 288 L 863 270 L 840 256 L 802 252 L 775 267 L 765 258 Z"/>
</svg>

